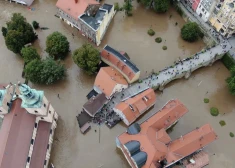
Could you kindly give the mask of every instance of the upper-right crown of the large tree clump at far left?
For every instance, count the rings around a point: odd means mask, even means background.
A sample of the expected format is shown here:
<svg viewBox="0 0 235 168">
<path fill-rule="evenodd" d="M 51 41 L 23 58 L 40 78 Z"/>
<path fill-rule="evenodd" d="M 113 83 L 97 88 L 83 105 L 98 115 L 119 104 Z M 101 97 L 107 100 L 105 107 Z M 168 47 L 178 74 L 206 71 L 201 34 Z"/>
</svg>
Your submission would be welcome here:
<svg viewBox="0 0 235 168">
<path fill-rule="evenodd" d="M 31 43 L 37 35 L 33 31 L 33 27 L 26 21 L 20 13 L 14 13 L 11 21 L 7 22 L 7 30 L 15 30 L 23 34 L 24 43 Z"/>
</svg>

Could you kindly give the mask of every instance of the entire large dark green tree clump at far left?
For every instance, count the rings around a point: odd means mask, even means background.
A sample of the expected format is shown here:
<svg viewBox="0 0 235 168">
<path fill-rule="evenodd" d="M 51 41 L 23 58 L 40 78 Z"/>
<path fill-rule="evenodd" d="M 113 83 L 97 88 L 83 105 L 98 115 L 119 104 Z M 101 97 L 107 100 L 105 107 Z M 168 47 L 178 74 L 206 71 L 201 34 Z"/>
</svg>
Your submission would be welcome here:
<svg viewBox="0 0 235 168">
<path fill-rule="evenodd" d="M 6 24 L 6 28 L 2 27 L 2 33 L 7 48 L 14 53 L 20 53 L 25 44 L 31 43 L 37 38 L 32 26 L 20 13 L 14 13 Z"/>
</svg>

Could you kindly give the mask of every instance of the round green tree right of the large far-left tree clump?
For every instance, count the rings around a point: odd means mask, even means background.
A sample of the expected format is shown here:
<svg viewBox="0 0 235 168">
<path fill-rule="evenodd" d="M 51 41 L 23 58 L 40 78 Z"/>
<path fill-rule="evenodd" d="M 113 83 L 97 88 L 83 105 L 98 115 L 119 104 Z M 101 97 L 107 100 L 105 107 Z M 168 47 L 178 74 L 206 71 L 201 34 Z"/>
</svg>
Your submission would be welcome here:
<svg viewBox="0 0 235 168">
<path fill-rule="evenodd" d="M 69 52 L 67 38 L 59 32 L 54 32 L 47 37 L 46 52 L 54 59 L 64 59 Z"/>
</svg>

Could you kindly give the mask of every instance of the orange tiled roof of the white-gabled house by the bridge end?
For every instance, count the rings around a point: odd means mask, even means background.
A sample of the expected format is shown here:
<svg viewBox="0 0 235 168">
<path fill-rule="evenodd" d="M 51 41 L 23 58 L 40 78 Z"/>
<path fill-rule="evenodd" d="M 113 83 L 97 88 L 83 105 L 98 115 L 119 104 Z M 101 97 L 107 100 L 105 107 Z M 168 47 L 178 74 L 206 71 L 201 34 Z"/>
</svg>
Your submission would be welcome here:
<svg viewBox="0 0 235 168">
<path fill-rule="evenodd" d="M 128 85 L 120 72 L 111 67 L 103 67 L 96 76 L 94 85 L 110 97 L 117 84 Z"/>
</svg>

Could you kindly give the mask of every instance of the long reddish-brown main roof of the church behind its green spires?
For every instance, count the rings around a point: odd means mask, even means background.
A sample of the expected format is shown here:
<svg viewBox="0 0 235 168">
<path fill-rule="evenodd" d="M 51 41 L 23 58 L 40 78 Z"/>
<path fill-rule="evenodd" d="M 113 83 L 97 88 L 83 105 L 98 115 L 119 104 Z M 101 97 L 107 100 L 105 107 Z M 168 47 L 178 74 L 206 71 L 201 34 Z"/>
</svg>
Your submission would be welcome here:
<svg viewBox="0 0 235 168">
<path fill-rule="evenodd" d="M 0 168 L 25 168 L 36 116 L 21 108 L 21 100 L 12 104 L 0 130 Z"/>
</svg>

